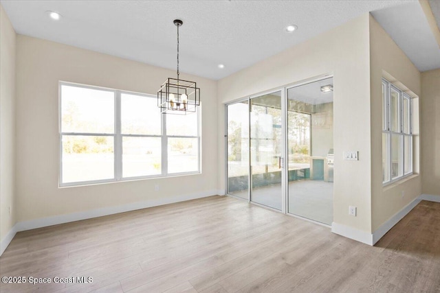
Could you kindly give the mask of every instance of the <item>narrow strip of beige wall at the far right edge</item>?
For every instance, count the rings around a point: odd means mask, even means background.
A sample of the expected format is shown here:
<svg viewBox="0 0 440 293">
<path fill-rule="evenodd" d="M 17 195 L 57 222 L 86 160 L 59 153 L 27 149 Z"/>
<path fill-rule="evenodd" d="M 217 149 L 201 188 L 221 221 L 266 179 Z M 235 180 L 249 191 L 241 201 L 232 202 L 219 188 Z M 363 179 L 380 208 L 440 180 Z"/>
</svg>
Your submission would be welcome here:
<svg viewBox="0 0 440 293">
<path fill-rule="evenodd" d="M 423 194 L 440 196 L 440 69 L 421 73 Z"/>
</svg>

